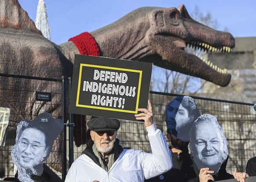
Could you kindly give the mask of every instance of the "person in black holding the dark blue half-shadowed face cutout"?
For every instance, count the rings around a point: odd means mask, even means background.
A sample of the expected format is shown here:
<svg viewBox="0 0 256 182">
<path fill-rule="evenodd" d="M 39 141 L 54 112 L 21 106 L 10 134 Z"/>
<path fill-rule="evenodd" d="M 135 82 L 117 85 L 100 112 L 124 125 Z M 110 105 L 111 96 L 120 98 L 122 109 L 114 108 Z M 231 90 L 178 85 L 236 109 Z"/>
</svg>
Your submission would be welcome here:
<svg viewBox="0 0 256 182">
<path fill-rule="evenodd" d="M 191 125 L 198 116 L 199 109 L 190 96 L 176 97 L 168 103 L 165 117 L 168 128 L 166 138 L 172 143 L 169 148 L 173 167 L 170 171 L 145 182 L 187 182 L 196 177 L 188 144 Z"/>
</svg>

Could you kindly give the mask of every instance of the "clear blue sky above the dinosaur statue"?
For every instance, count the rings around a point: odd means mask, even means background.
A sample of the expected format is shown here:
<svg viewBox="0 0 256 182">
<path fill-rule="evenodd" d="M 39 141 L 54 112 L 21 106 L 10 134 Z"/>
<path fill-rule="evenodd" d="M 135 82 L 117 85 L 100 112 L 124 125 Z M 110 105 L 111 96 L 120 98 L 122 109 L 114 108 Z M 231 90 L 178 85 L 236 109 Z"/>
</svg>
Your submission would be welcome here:
<svg viewBox="0 0 256 182">
<path fill-rule="evenodd" d="M 39 0 L 18 0 L 34 22 Z M 144 6 L 178 7 L 184 4 L 189 14 L 197 6 L 203 15 L 210 13 L 218 29 L 234 37 L 256 36 L 255 0 L 44 0 L 51 41 L 67 42 L 83 32 L 91 32 Z"/>
</svg>

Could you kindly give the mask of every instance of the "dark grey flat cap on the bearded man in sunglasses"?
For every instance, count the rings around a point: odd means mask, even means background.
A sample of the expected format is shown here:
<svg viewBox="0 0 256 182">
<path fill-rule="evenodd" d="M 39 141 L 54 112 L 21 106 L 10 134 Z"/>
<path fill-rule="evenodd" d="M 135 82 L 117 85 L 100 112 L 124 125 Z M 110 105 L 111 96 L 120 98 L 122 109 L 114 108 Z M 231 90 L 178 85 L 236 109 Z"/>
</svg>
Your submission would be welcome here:
<svg viewBox="0 0 256 182">
<path fill-rule="evenodd" d="M 117 131 L 120 127 L 120 121 L 106 117 L 95 117 L 88 121 L 87 126 L 92 131 Z"/>
</svg>

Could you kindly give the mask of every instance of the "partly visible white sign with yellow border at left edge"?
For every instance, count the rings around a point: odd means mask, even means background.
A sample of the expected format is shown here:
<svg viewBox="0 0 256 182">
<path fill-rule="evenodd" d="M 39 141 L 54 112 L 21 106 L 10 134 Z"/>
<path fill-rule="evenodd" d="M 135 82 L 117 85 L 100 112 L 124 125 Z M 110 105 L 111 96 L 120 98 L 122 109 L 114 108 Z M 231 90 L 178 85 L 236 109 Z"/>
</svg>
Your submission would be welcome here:
<svg viewBox="0 0 256 182">
<path fill-rule="evenodd" d="M 5 145 L 6 129 L 9 123 L 10 108 L 0 107 L 0 146 Z"/>
</svg>

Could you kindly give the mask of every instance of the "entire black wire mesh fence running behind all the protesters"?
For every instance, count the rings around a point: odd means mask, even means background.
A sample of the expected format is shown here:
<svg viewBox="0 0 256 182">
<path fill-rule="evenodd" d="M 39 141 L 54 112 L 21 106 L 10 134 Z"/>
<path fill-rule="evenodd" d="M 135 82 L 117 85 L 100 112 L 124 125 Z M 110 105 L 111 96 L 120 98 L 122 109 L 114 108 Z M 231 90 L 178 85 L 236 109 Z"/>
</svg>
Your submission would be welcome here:
<svg viewBox="0 0 256 182">
<path fill-rule="evenodd" d="M 20 120 L 32 120 L 41 112 L 49 112 L 54 117 L 60 117 L 64 122 L 67 121 L 66 92 L 69 91 L 67 83 L 65 77 L 62 80 L 55 80 L 0 74 L 0 106 L 11 108 L 6 145 L 0 146 L 0 180 L 13 177 L 17 170 L 12 163 L 11 148 L 15 144 L 16 126 Z M 51 93 L 51 102 L 37 101 L 37 91 Z M 180 95 L 150 91 L 154 123 L 164 135 L 167 130 L 165 107 L 176 96 Z M 256 112 L 253 110 L 253 104 L 193 98 L 201 114 L 209 113 L 216 116 L 223 127 L 229 149 L 227 171 L 229 173 L 233 173 L 234 169 L 245 171 L 247 160 L 256 156 Z M 51 157 L 44 165 L 45 170 L 51 175 L 51 181 L 64 181 L 69 166 L 85 149 L 85 142 L 89 137 L 86 123 L 90 118 L 91 116 L 73 114 L 65 124 L 69 129 L 64 127 L 62 135 L 55 141 Z M 73 126 L 73 121 L 75 121 L 75 126 Z M 124 148 L 151 152 L 143 122 L 121 120 L 117 138 Z M 171 145 L 170 142 L 168 144 Z M 69 160 L 66 159 L 67 157 Z"/>
</svg>

